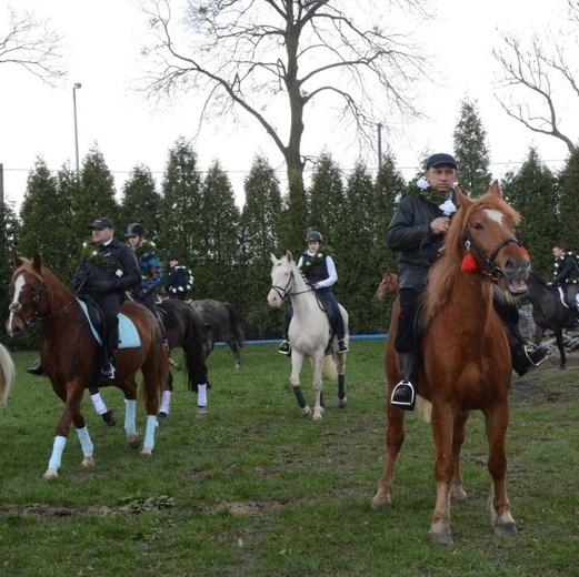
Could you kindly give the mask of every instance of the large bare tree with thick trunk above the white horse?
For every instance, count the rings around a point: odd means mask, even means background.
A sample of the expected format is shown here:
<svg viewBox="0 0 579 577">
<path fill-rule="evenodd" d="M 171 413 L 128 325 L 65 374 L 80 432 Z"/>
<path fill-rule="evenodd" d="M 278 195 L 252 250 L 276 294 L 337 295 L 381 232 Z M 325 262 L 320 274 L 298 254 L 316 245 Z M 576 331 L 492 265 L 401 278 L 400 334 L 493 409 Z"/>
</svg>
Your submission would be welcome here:
<svg viewBox="0 0 579 577">
<path fill-rule="evenodd" d="M 169 0 L 143 8 L 156 43 L 149 95 L 202 92 L 201 122 L 243 111 L 269 134 L 287 165 L 290 211 L 305 210 L 302 136 L 310 104 L 333 108 L 363 144 L 377 120 L 420 117 L 413 105 L 426 61 L 378 22 L 395 6 L 421 13 L 421 0 L 189 0 L 179 39 Z M 370 6 L 372 4 L 372 6 Z M 407 11 L 407 14 L 408 14 Z M 349 14 L 357 14 L 356 23 Z M 323 97 L 323 98 L 322 98 Z M 311 107 L 310 107 L 311 108 Z M 338 124 L 337 124 L 338 130 Z M 303 221 L 302 221 L 303 222 Z"/>
</svg>

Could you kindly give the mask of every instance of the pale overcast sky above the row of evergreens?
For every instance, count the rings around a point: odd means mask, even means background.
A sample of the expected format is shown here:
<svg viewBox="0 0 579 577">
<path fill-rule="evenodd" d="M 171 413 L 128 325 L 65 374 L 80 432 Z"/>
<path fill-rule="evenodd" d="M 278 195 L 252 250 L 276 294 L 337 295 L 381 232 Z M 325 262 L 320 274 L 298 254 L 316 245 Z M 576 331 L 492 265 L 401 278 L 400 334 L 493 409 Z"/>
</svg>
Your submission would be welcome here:
<svg viewBox="0 0 579 577">
<path fill-rule="evenodd" d="M 76 82 L 82 84 L 77 90 L 81 161 L 89 148 L 98 143 L 116 176 L 119 193 L 137 164 L 148 165 L 159 182 L 168 151 L 176 140 L 180 135 L 194 135 L 199 103 L 188 98 L 173 108 L 159 110 L 134 93 L 131 81 L 141 73 L 139 48 L 146 30 L 136 2 L 0 0 L 0 33 L 6 26 L 8 6 L 18 12 L 28 9 L 39 17 L 50 17 L 50 26 L 67 43 L 69 75 L 62 85 L 49 88 L 20 67 L 0 65 L 0 163 L 4 168 L 7 200 L 13 201 L 18 209 L 28 173 L 38 155 L 54 171 L 66 162 L 74 166 L 72 87 Z M 530 145 L 537 146 L 545 162 L 560 168 L 567 156 L 565 144 L 553 138 L 532 134 L 509 119 L 496 102 L 492 74 L 496 64 L 491 50 L 497 42 L 497 27 L 522 33 L 545 29 L 549 22 L 557 28 L 559 18 L 556 17 L 562 13 L 563 0 L 541 3 L 433 0 L 432 6 L 436 7 L 436 20 L 419 31 L 430 54 L 436 57 L 436 78 L 441 84 L 425 90 L 425 113 L 431 120 L 418 126 L 409 125 L 406 139 L 390 142 L 386 134 L 383 136 L 383 148 L 392 146 L 405 175 L 413 174 L 425 151 L 452 151 L 452 132 L 465 97 L 478 101 L 495 176 L 525 160 Z M 570 117 L 566 123 L 569 126 L 579 124 L 577 118 Z M 576 136 L 573 129 L 568 133 Z M 311 154 L 326 148 L 346 171 L 358 158 L 357 151 L 343 150 L 340 142 L 331 141 L 331 130 L 309 133 L 307 144 Z M 243 202 L 242 181 L 256 153 L 267 155 L 271 164 L 280 169 L 283 180 L 280 154 L 262 129 L 250 120 L 242 130 L 227 123 L 204 129 L 196 150 L 202 170 L 216 158 L 221 161 L 240 205 Z M 369 154 L 365 160 L 369 168 L 376 166 L 376 154 Z"/>
</svg>

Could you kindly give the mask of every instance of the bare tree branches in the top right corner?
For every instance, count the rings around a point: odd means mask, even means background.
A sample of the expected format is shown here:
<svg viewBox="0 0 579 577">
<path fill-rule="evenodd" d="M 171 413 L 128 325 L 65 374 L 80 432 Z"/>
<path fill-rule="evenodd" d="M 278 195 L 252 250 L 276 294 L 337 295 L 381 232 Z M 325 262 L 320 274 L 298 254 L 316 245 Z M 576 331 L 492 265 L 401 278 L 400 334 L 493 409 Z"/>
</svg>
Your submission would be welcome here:
<svg viewBox="0 0 579 577">
<path fill-rule="evenodd" d="M 501 94 L 496 97 L 505 112 L 532 132 L 561 140 L 573 152 L 577 133 L 562 126 L 569 102 L 579 99 L 577 0 L 568 0 L 568 9 L 571 23 L 568 33 L 548 32 L 545 42 L 532 34 L 525 44 L 511 34 L 501 33 L 502 48 L 493 50 L 493 57 L 501 68 Z M 570 47 L 573 40 L 575 47 Z M 573 108 L 577 109 L 577 101 Z"/>
</svg>

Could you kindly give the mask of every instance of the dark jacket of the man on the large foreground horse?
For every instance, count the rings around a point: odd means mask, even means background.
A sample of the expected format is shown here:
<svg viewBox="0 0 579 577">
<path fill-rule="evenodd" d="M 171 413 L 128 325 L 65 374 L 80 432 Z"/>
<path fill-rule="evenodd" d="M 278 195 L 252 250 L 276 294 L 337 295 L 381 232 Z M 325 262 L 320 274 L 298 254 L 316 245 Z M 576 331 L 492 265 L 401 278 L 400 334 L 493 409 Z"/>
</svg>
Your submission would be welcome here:
<svg viewBox="0 0 579 577">
<path fill-rule="evenodd" d="M 398 286 L 422 291 L 430 266 L 439 256 L 442 234 L 435 234 L 430 223 L 440 216 L 435 204 L 418 194 L 403 196 L 386 230 L 388 247 L 400 252 Z"/>
</svg>

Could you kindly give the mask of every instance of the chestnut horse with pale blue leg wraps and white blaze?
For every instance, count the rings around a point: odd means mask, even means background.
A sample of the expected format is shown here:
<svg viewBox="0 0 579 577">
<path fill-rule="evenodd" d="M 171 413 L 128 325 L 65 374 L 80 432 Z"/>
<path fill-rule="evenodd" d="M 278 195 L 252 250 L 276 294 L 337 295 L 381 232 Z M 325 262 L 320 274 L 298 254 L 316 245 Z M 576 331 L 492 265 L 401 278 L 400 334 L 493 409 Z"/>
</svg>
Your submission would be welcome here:
<svg viewBox="0 0 579 577">
<path fill-rule="evenodd" d="M 42 332 L 41 361 L 54 393 L 64 403 L 57 424 L 52 455 L 44 477 L 57 477 L 70 424 L 73 423 L 84 459 L 82 465 L 94 465 L 92 442 L 80 404 L 90 385 L 112 384 L 124 393 L 127 441 L 132 448 L 140 445 L 136 431 L 137 393 L 147 408 L 147 429 L 141 455 L 150 455 L 154 447 L 157 409 L 169 376 L 169 357 L 162 346 L 159 321 L 144 306 L 127 301 L 121 313 L 132 321 L 140 345 L 119 348 L 114 381 L 99 383 L 100 345 L 74 294 L 42 265 L 34 252 L 32 260 L 14 256 L 14 272 L 10 283 L 10 316 L 6 327 L 10 336 L 22 336 L 28 326 L 40 324 Z M 142 372 L 143 386 L 138 391 L 134 376 Z"/>
</svg>

